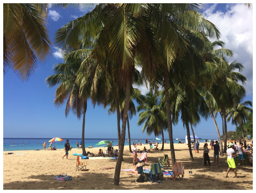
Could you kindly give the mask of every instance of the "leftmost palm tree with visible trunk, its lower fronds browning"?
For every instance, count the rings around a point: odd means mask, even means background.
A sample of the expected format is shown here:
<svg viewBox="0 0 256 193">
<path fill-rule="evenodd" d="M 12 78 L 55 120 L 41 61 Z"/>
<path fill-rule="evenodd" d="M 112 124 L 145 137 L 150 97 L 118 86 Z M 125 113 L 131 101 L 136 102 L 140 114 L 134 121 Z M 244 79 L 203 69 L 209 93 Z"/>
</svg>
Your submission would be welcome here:
<svg viewBox="0 0 256 193">
<path fill-rule="evenodd" d="M 79 59 L 68 60 L 66 63 L 58 63 L 53 67 L 56 74 L 49 76 L 45 81 L 49 88 L 60 84 L 56 89 L 54 104 L 58 108 L 67 100 L 65 108 L 66 117 L 70 110 L 77 116 L 77 119 L 80 119 L 83 114 L 82 150 L 83 155 L 87 155 L 84 147 L 84 126 L 87 99 L 90 97 L 92 83 L 88 78 L 87 84 L 83 88 L 83 94 L 81 95 L 80 85 L 76 82 L 80 64 L 81 60 Z"/>
</svg>

